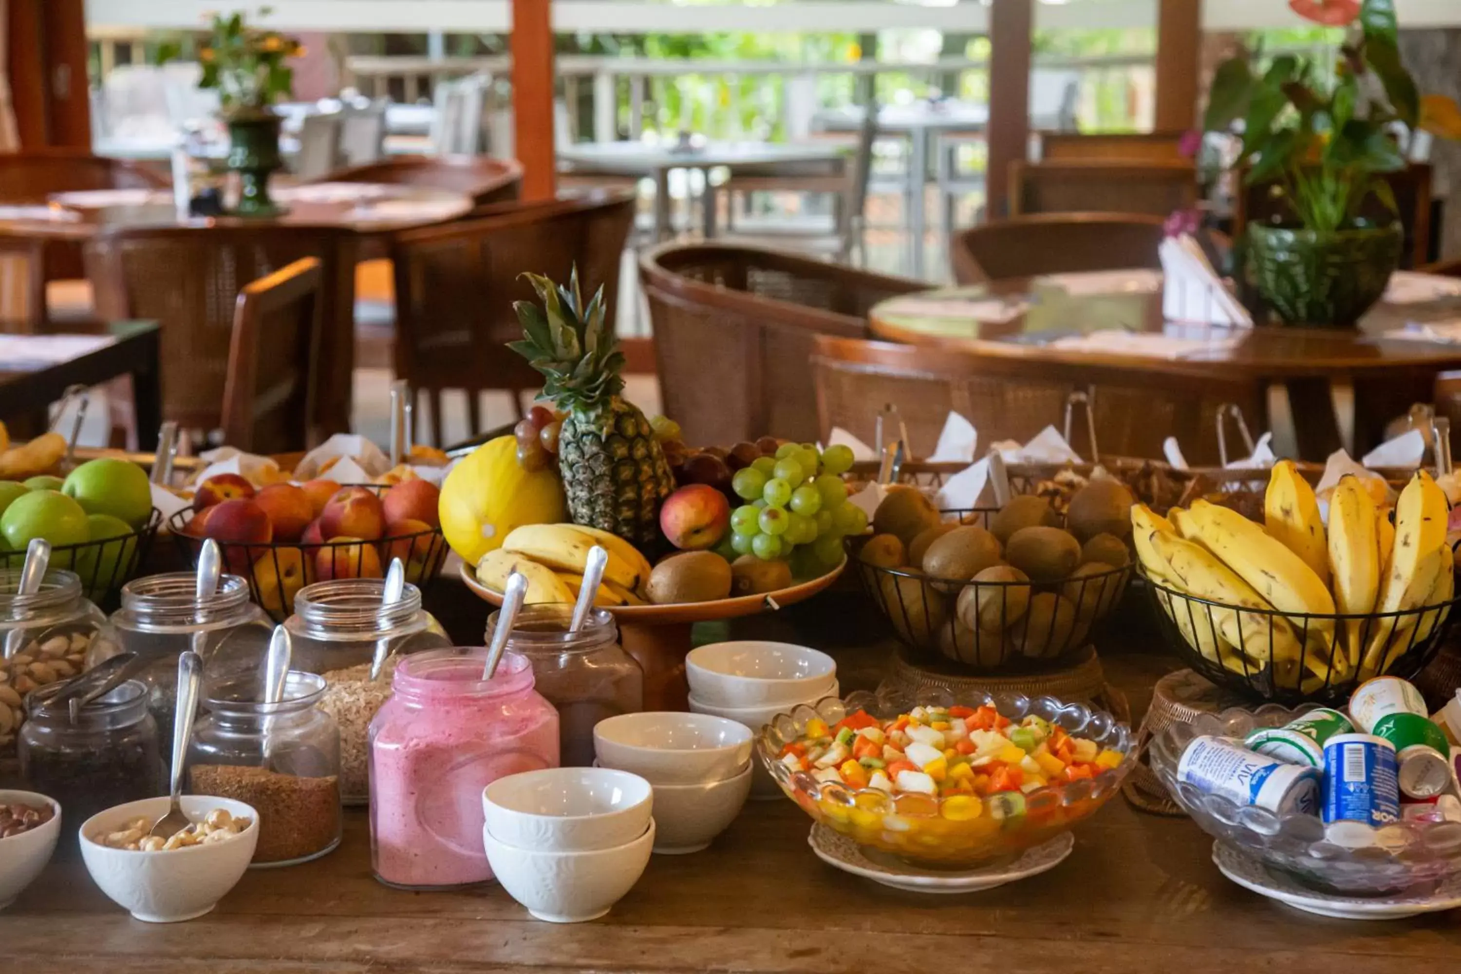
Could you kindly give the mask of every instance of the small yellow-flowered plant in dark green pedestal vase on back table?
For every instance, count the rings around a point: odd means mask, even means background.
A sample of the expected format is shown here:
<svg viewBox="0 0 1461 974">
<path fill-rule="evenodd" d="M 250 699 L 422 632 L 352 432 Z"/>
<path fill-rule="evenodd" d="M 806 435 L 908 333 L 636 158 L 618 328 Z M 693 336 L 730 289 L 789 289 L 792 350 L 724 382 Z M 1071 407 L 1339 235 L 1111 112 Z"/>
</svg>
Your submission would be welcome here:
<svg viewBox="0 0 1461 974">
<path fill-rule="evenodd" d="M 260 7 L 259 16 L 272 13 Z M 158 61 L 181 55 L 181 45 L 158 51 Z M 297 38 L 250 26 L 243 12 L 213 15 L 207 39 L 194 51 L 203 66 L 200 88 L 218 89 L 231 147 L 228 168 L 238 172 L 237 216 L 270 216 L 279 212 L 269 199 L 269 174 L 279 159 L 279 123 L 275 102 L 294 89 L 294 70 L 285 63 L 304 54 Z"/>
</svg>

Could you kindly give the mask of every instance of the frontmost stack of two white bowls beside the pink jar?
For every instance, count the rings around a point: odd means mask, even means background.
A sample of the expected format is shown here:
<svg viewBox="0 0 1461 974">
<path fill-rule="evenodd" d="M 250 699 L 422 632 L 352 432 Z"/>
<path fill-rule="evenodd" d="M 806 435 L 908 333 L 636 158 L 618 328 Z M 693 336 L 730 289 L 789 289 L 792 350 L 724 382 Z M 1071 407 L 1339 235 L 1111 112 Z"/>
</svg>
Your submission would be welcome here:
<svg viewBox="0 0 1461 974">
<path fill-rule="evenodd" d="M 596 920 L 627 894 L 655 844 L 649 781 L 609 768 L 510 774 L 482 791 L 492 873 L 539 920 Z"/>
</svg>

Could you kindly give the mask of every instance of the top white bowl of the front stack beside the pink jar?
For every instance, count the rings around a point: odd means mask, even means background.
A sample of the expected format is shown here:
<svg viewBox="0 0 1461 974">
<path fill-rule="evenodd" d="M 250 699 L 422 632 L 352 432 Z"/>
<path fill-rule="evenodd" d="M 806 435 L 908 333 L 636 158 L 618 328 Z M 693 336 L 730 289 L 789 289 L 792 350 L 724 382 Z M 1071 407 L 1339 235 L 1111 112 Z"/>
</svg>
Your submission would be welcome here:
<svg viewBox="0 0 1461 974">
<path fill-rule="evenodd" d="M 487 831 L 500 843 L 545 851 L 589 851 L 631 843 L 649 828 L 649 781 L 612 768 L 542 768 L 482 791 Z"/>
</svg>

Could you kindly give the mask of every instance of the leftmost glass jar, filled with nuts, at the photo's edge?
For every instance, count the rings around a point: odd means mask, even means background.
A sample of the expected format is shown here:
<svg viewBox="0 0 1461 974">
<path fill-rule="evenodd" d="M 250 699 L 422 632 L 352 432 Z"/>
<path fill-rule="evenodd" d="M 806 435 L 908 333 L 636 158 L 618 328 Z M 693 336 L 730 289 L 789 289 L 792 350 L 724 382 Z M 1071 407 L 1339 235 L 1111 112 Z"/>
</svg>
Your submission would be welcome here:
<svg viewBox="0 0 1461 974">
<path fill-rule="evenodd" d="M 107 624 L 75 572 L 47 572 L 29 596 L 19 584 L 19 568 L 0 570 L 0 762 L 15 758 L 26 695 L 85 670 Z"/>
</svg>

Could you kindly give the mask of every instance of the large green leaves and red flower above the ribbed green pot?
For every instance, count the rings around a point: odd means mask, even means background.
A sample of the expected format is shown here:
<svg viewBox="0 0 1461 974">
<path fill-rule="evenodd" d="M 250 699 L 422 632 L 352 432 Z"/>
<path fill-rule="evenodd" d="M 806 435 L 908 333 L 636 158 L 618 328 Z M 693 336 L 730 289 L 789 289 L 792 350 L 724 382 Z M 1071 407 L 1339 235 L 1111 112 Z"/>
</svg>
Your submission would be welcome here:
<svg viewBox="0 0 1461 974">
<path fill-rule="evenodd" d="M 1237 166 L 1249 184 L 1273 184 L 1306 229 L 1360 225 L 1373 197 L 1391 213 L 1386 172 L 1405 168 L 1395 124 L 1451 134 L 1448 98 L 1422 98 L 1400 60 L 1394 0 L 1290 0 L 1300 16 L 1346 28 L 1332 72 L 1293 54 L 1258 70 L 1246 53 L 1218 66 L 1205 127 L 1229 131 L 1242 121 Z"/>
</svg>

